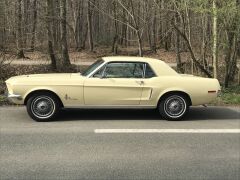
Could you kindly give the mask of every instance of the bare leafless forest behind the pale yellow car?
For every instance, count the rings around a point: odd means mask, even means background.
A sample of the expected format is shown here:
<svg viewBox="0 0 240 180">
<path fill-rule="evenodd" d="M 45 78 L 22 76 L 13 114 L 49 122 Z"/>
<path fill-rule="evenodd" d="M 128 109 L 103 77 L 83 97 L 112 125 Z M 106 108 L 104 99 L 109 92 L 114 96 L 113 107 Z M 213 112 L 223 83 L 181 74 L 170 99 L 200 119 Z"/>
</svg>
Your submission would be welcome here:
<svg viewBox="0 0 240 180">
<path fill-rule="evenodd" d="M 239 86 L 240 0 L 1 0 L 0 51 L 2 80 L 11 62 L 34 53 L 54 72 L 71 71 L 73 55 L 84 53 L 84 61 L 155 57 Z"/>
</svg>

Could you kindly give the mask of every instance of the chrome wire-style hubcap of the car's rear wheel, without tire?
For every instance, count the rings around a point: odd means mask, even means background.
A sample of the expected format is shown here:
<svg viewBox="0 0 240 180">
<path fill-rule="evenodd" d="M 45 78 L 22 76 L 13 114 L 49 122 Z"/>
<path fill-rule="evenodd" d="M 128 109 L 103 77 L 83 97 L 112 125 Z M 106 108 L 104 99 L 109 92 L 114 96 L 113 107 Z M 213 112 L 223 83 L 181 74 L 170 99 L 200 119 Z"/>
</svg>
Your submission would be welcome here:
<svg viewBox="0 0 240 180">
<path fill-rule="evenodd" d="M 186 102 L 180 96 L 170 96 L 164 103 L 164 110 L 170 117 L 180 117 L 186 111 Z"/>
</svg>

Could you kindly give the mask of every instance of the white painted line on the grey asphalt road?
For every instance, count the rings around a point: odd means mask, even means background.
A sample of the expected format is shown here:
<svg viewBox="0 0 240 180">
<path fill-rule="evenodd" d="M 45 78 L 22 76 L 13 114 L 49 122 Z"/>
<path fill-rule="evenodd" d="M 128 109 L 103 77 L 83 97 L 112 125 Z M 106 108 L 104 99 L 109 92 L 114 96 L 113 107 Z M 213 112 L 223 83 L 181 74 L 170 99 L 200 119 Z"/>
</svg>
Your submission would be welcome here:
<svg viewBox="0 0 240 180">
<path fill-rule="evenodd" d="M 94 133 L 240 133 L 240 129 L 95 129 Z"/>
</svg>

